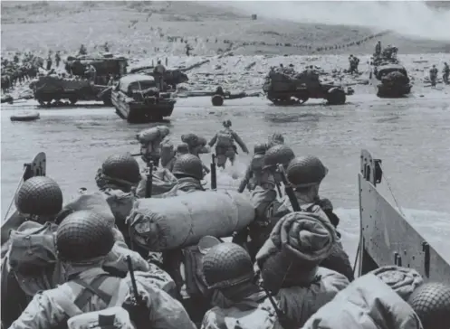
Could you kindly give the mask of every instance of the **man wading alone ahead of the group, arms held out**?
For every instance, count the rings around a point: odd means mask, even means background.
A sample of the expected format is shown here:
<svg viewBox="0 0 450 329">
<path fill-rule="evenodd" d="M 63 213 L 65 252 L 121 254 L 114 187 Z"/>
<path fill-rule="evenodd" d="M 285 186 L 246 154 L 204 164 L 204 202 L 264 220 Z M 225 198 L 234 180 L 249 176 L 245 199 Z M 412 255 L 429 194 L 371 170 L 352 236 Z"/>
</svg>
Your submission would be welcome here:
<svg viewBox="0 0 450 329">
<path fill-rule="evenodd" d="M 243 140 L 238 136 L 231 127 L 231 121 L 226 120 L 223 122 L 225 129 L 221 129 L 209 142 L 209 146 L 215 145 L 215 155 L 217 156 L 217 166 L 225 168 L 226 159 L 229 159 L 231 164 L 235 163 L 235 155 L 237 154 L 237 148 L 235 142 L 241 146 L 242 150 L 248 155 L 247 146 L 245 146 Z"/>
</svg>

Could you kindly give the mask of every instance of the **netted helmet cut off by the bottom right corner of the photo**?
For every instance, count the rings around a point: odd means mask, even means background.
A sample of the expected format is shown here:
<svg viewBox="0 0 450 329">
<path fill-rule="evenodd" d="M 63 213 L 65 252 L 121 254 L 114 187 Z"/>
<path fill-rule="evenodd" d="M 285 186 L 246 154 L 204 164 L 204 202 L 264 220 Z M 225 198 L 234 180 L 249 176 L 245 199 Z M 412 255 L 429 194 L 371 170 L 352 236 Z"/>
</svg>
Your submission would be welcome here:
<svg viewBox="0 0 450 329">
<path fill-rule="evenodd" d="M 407 303 L 411 305 L 424 329 L 450 327 L 450 286 L 443 283 L 426 283 L 417 287 Z"/>
</svg>

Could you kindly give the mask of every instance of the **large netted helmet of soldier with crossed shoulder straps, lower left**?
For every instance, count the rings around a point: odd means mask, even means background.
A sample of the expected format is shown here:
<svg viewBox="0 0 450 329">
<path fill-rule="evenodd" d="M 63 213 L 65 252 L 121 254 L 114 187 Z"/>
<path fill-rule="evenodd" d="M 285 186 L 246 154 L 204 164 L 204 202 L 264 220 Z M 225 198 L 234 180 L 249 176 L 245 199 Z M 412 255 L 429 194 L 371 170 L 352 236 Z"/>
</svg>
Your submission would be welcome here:
<svg viewBox="0 0 450 329">
<path fill-rule="evenodd" d="M 114 245 L 110 223 L 92 211 L 75 211 L 67 216 L 56 232 L 58 257 L 83 262 L 106 256 Z"/>
</svg>

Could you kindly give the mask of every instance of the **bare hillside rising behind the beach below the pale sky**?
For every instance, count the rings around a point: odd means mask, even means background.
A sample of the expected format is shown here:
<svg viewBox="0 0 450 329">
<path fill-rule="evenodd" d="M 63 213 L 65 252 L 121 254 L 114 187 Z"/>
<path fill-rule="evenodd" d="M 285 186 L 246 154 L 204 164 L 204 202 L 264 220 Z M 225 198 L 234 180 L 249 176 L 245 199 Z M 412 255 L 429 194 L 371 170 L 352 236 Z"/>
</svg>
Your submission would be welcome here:
<svg viewBox="0 0 450 329">
<path fill-rule="evenodd" d="M 138 57 L 183 54 L 186 42 L 193 55 L 229 49 L 248 55 L 363 54 L 373 52 L 376 40 L 396 44 L 402 53 L 450 52 L 445 42 L 397 33 L 374 38 L 381 31 L 357 26 L 252 20 L 207 2 L 2 2 L 1 8 L 2 56 L 16 51 L 73 53 L 81 43 L 93 50 L 104 42 L 112 52 Z"/>
</svg>

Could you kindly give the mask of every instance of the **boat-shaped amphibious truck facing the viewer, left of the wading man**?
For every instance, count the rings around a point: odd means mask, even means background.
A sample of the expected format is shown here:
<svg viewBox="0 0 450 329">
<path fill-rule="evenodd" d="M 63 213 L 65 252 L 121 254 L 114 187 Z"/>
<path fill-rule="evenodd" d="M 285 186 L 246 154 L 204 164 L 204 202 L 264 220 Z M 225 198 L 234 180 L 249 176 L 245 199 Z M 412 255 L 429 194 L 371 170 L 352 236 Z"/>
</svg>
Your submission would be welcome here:
<svg viewBox="0 0 450 329">
<path fill-rule="evenodd" d="M 144 74 L 122 77 L 112 89 L 111 101 L 118 116 L 129 123 L 147 123 L 170 117 L 177 102 L 172 92 L 161 92 L 155 79 Z"/>
</svg>

